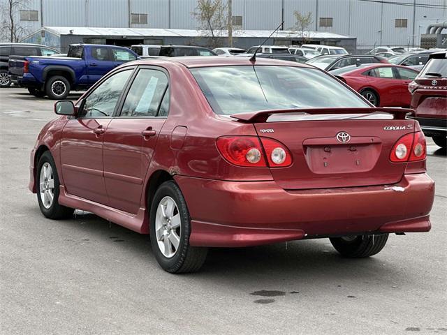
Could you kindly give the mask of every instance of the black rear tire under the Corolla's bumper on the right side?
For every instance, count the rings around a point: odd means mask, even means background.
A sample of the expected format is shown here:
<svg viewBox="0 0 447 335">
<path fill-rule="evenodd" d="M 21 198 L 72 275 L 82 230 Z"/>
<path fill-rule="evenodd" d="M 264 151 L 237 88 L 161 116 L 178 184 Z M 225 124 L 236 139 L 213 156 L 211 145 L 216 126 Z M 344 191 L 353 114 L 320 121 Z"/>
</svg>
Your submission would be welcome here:
<svg viewBox="0 0 447 335">
<path fill-rule="evenodd" d="M 358 235 L 356 237 L 332 238 L 330 243 L 344 257 L 363 258 L 379 253 L 387 240 L 388 234 Z"/>
</svg>

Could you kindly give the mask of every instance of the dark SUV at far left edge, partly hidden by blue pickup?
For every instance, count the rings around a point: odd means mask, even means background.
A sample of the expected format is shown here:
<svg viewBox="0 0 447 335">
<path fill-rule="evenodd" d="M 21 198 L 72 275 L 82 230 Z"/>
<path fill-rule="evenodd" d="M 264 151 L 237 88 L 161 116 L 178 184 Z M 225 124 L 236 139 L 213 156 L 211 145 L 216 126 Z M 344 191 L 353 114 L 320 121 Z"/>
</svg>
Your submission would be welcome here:
<svg viewBox="0 0 447 335">
<path fill-rule="evenodd" d="M 39 44 L 0 43 L 0 87 L 8 87 L 11 84 L 8 76 L 8 60 L 13 54 L 17 56 L 51 56 L 60 54 L 60 52 Z"/>
</svg>

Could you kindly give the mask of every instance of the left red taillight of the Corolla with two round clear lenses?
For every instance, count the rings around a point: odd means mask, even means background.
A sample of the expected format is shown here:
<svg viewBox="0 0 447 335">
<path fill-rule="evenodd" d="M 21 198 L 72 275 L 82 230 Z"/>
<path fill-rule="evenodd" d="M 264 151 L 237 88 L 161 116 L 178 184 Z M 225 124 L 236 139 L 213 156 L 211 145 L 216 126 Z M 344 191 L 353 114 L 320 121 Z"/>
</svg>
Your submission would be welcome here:
<svg viewBox="0 0 447 335">
<path fill-rule="evenodd" d="M 217 139 L 217 149 L 226 161 L 238 166 L 284 168 L 292 163 L 286 146 L 267 137 L 223 136 Z"/>
</svg>

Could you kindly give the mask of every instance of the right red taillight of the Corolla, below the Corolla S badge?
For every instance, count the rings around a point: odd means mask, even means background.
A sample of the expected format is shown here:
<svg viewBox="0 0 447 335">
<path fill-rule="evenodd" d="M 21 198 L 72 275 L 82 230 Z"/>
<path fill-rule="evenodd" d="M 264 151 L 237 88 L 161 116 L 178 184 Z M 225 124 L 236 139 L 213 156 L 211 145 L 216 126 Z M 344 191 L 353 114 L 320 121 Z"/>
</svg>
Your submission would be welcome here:
<svg viewBox="0 0 447 335">
<path fill-rule="evenodd" d="M 392 162 L 423 161 L 426 156 L 427 144 L 422 131 L 406 134 L 400 137 L 391 150 Z"/>
</svg>

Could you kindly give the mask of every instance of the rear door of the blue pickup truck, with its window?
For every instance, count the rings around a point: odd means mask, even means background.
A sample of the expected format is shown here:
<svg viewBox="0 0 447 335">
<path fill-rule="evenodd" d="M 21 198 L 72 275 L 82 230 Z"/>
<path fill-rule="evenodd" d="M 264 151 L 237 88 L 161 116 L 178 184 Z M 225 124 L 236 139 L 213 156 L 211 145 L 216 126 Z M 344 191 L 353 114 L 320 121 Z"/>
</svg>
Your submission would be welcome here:
<svg viewBox="0 0 447 335">
<path fill-rule="evenodd" d="M 110 47 L 91 46 L 87 56 L 87 75 L 89 84 L 94 84 L 115 67 Z"/>
</svg>

